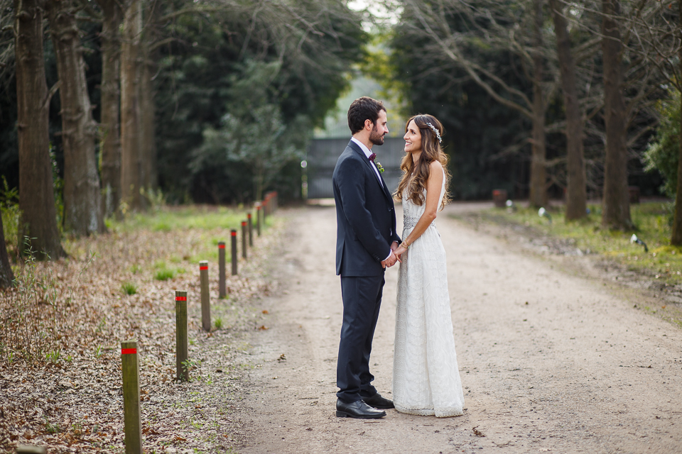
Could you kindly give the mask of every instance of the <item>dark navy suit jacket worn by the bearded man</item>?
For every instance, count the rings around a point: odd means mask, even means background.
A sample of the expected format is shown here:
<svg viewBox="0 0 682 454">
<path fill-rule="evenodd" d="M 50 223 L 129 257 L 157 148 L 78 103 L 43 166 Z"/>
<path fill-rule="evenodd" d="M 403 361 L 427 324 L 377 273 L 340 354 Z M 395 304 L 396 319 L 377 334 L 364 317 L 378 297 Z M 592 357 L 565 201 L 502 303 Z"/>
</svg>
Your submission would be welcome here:
<svg viewBox="0 0 682 454">
<path fill-rule="evenodd" d="M 391 253 L 391 243 L 400 243 L 393 197 L 372 167 L 351 140 L 334 168 L 337 275 L 383 275 L 381 260 Z"/>
</svg>

